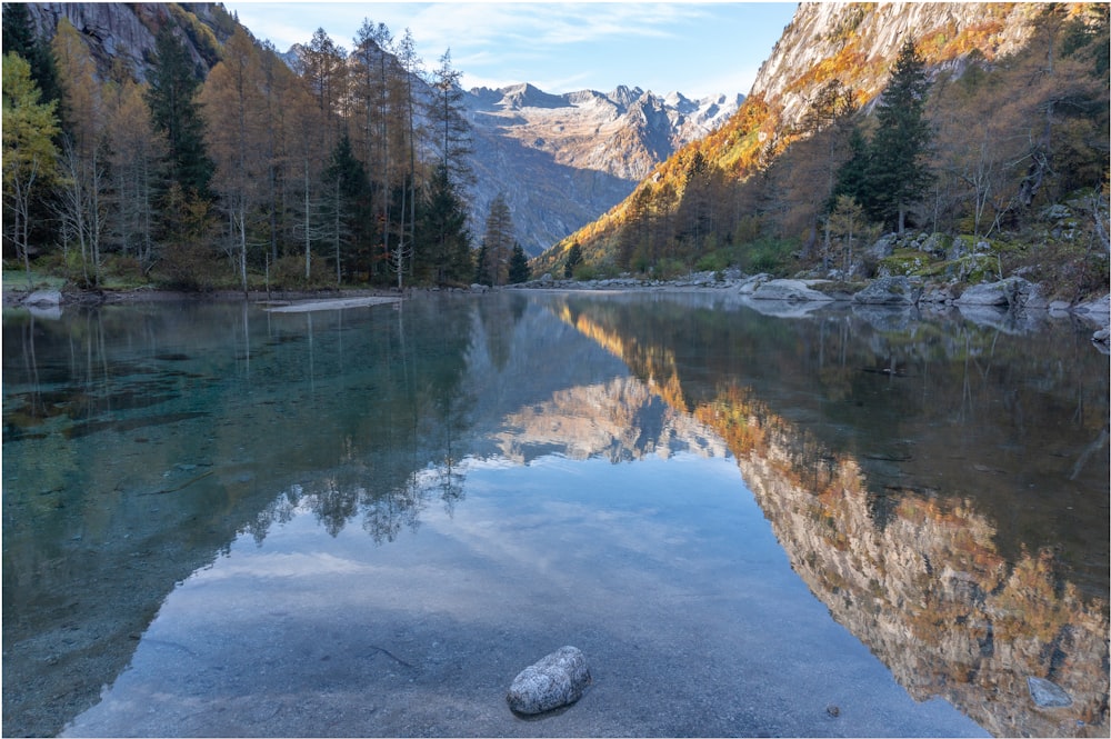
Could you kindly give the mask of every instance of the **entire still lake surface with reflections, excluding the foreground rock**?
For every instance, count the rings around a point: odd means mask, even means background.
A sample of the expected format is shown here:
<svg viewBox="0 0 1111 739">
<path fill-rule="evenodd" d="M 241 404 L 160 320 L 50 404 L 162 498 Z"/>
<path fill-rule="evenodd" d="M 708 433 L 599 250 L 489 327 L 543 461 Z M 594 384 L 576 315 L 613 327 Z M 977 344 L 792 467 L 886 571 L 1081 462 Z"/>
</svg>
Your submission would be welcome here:
<svg viewBox="0 0 1111 739">
<path fill-rule="evenodd" d="M 6 309 L 3 733 L 1107 736 L 1091 329 L 753 306 Z"/>
</svg>

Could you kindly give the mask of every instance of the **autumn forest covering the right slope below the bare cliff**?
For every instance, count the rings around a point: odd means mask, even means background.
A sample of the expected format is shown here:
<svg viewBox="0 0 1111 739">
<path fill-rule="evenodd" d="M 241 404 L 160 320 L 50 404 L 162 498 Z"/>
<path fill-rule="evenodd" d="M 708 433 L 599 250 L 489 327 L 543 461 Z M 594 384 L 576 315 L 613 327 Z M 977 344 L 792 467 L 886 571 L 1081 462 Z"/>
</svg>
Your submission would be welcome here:
<svg viewBox="0 0 1111 739">
<path fill-rule="evenodd" d="M 1054 3 L 1023 48 L 989 57 L 1009 8 L 960 33 L 908 38 L 881 96 L 870 58 L 799 70 L 792 120 L 747 98 L 623 203 L 541 254 L 533 271 L 667 279 L 747 272 L 973 283 L 1023 274 L 1065 300 L 1108 284 L 1108 6 Z M 887 257 L 868 247 L 887 233 Z"/>
</svg>

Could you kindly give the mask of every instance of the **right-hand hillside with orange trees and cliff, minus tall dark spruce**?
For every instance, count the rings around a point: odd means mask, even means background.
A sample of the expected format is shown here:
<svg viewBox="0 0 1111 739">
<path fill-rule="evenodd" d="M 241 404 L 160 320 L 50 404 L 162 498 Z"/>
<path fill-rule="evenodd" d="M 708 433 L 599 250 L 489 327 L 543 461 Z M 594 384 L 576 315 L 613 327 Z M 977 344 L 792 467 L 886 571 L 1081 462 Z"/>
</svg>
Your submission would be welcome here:
<svg viewBox="0 0 1111 739">
<path fill-rule="evenodd" d="M 804 3 L 725 124 L 541 254 L 533 273 L 562 277 L 574 243 L 580 278 L 907 273 L 864 262 L 868 244 L 854 244 L 894 224 L 861 220 L 845 243 L 831 194 L 853 134 L 873 134 L 910 40 L 929 81 L 931 187 L 908 224 L 955 243 L 960 258 L 990 254 L 997 277 L 1025 268 L 1065 298 L 1105 291 L 1108 26 L 1108 6 L 1094 3 Z M 1062 229 L 1065 216 L 1073 226 Z M 842 251 L 854 263 L 830 274 Z M 1093 254 L 1095 269 L 1077 268 Z M 982 273 L 957 270 L 970 282 Z"/>
</svg>

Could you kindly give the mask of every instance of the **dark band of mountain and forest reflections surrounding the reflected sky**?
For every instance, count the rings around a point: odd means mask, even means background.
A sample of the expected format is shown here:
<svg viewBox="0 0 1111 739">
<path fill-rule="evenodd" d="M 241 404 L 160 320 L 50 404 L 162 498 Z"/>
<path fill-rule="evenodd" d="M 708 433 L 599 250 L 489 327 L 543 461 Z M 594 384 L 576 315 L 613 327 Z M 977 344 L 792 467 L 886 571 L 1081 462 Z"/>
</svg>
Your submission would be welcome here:
<svg viewBox="0 0 1111 739">
<path fill-rule="evenodd" d="M 468 458 L 693 452 L 735 457 L 793 569 L 917 699 L 1105 736 L 1108 377 L 1082 336 L 700 294 L 372 310 L 6 313 L 6 735 L 93 702 L 240 532 L 308 510 L 387 543 L 466 505 Z"/>
</svg>

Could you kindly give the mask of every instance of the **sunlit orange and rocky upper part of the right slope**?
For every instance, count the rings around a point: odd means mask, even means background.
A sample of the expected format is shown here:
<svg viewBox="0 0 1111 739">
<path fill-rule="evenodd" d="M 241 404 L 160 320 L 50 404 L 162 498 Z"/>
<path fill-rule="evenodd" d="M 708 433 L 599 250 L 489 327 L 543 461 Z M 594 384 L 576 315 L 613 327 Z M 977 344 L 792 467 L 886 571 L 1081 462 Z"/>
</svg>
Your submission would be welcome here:
<svg viewBox="0 0 1111 739">
<path fill-rule="evenodd" d="M 825 123 L 815 118 L 813 109 L 820 92 L 832 82 L 848 92 L 860 111 L 855 120 L 863 121 L 908 38 L 915 41 L 931 79 L 951 81 L 973 66 L 1005 71 L 1015 66 L 1013 60 L 1034 56 L 1044 67 L 1054 54 L 1061 56 L 1061 39 L 1070 22 L 1083 19 L 1090 27 L 1099 27 L 1105 24 L 1095 18 L 1102 12 L 1084 3 L 803 3 L 761 67 L 743 104 L 727 123 L 677 151 L 623 202 L 541 254 L 533 272 L 560 271 L 556 268 L 562 267 L 575 242 L 588 263 L 642 270 L 668 258 L 685 260 L 691 267 L 699 254 L 727 242 L 754 241 L 769 232 L 799 239 L 807 219 L 813 218 L 812 206 L 807 210 L 799 203 L 823 202 L 829 196 L 829 178 L 800 171 L 795 181 L 783 182 L 791 178 L 774 171 L 773 166 L 794 144 L 822 131 Z M 1042 46 L 1048 49 L 1032 42 L 1039 31 L 1047 36 Z M 1073 74 L 1071 69 L 1057 64 L 1053 72 L 1065 76 L 1057 82 L 1058 88 L 1072 83 L 1068 77 Z M 1029 92 L 1004 89 L 1011 81 L 978 90 L 974 97 L 984 108 L 988 100 L 1003 108 L 1011 98 L 1044 94 L 1040 88 Z M 1040 104 L 1033 99 L 1029 102 L 1032 109 Z M 944 99 L 929 114 L 940 120 L 937 117 L 952 118 L 967 108 L 965 101 Z M 1028 123 L 1007 122 L 1008 130 L 1000 136 L 1029 129 Z M 827 151 L 824 144 L 821 148 Z M 827 169 L 839 163 L 832 147 L 829 152 Z M 843 159 L 842 154 L 840 161 Z M 742 187 L 757 174 L 774 178 L 774 187 L 759 192 L 758 188 Z M 803 179 L 809 181 L 798 181 Z M 697 193 L 691 192 L 694 180 L 704 182 Z M 794 212 L 798 210 L 805 211 L 805 217 Z M 704 232 L 712 231 L 713 240 L 684 231 L 688 221 L 697 221 Z M 650 250 L 647 261 L 635 263 L 628 258 L 629 251 L 649 238 L 648 231 L 661 229 L 669 240 Z M 627 250 L 624 257 L 622 249 Z"/>
</svg>

